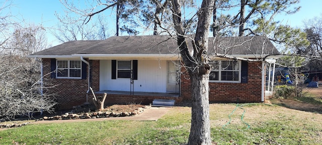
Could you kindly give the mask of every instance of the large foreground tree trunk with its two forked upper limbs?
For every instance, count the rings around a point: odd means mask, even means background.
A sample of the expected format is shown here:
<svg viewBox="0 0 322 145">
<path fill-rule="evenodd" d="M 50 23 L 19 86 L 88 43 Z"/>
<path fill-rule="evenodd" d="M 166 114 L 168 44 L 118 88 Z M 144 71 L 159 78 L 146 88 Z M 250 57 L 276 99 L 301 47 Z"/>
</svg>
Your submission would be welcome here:
<svg viewBox="0 0 322 145">
<path fill-rule="evenodd" d="M 181 1 L 172 0 L 174 28 L 177 32 L 178 47 L 184 65 L 191 79 L 192 114 L 191 130 L 188 144 L 211 144 L 209 119 L 209 73 L 210 64 L 207 57 L 208 34 L 213 13 L 214 0 L 204 0 L 201 4 L 196 35 L 193 41 L 193 54 L 190 54 L 184 25 L 181 18 Z"/>
</svg>

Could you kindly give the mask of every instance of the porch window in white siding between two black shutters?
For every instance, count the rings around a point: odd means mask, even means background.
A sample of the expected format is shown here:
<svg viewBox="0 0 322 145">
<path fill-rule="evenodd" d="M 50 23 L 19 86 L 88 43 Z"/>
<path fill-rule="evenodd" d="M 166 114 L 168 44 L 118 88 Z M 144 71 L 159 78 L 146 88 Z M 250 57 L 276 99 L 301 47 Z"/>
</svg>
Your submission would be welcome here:
<svg viewBox="0 0 322 145">
<path fill-rule="evenodd" d="M 117 78 L 131 78 L 131 60 L 117 61 Z"/>
</svg>

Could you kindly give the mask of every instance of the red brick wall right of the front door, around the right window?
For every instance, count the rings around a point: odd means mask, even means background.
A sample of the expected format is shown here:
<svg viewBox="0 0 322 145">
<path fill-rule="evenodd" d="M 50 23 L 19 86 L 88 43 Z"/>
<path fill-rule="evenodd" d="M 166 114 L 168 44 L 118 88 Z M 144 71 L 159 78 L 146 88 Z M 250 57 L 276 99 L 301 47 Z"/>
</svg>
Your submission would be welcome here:
<svg viewBox="0 0 322 145">
<path fill-rule="evenodd" d="M 248 62 L 247 83 L 209 83 L 210 102 L 261 102 L 262 62 Z M 185 70 L 185 68 L 182 68 Z M 185 79 L 186 78 L 186 79 Z M 181 76 L 181 95 L 191 99 L 191 82 L 188 73 Z"/>
</svg>

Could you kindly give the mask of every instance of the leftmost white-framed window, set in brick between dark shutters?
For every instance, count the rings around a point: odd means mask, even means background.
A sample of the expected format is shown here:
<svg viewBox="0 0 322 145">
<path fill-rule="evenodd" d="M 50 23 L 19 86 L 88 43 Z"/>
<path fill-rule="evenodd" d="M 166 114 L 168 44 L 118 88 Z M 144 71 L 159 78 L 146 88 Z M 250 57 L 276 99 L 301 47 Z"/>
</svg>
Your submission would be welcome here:
<svg viewBox="0 0 322 145">
<path fill-rule="evenodd" d="M 57 60 L 57 78 L 79 78 L 82 77 L 81 60 Z"/>
</svg>

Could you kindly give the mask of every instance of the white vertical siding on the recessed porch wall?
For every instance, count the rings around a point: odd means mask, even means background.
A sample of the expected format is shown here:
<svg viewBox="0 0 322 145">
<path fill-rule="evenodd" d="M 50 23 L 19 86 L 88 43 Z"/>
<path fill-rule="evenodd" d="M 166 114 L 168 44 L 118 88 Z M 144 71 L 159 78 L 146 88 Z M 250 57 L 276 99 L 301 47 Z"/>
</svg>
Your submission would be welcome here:
<svg viewBox="0 0 322 145">
<path fill-rule="evenodd" d="M 130 91 L 130 79 L 111 79 L 111 60 L 100 60 L 100 91 Z M 135 92 L 167 92 L 167 61 L 138 60 Z"/>
</svg>

